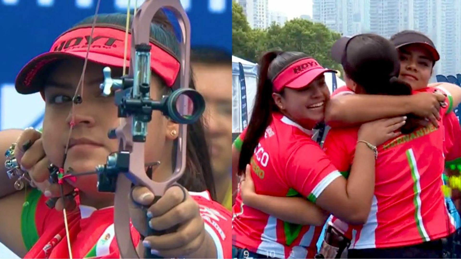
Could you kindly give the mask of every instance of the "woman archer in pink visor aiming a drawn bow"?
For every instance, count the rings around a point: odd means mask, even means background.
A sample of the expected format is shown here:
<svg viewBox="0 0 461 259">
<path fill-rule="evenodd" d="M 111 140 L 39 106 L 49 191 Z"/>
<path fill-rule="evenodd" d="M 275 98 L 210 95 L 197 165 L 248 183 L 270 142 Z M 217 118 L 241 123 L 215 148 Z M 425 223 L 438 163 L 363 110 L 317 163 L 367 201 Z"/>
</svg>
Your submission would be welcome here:
<svg viewBox="0 0 461 259">
<path fill-rule="evenodd" d="M 106 66 L 111 68 L 112 77 L 123 75 L 126 19 L 123 14 L 84 19 L 60 35 L 50 52 L 32 59 L 18 74 L 18 92 L 40 92 L 46 103 L 42 133 L 25 130 L 14 150 L 18 164 L 37 188 L 27 191 L 24 206 L 24 194 L 19 192 L 0 200 L 0 207 L 9 212 L 9 219 L 0 223 L 1 232 L 8 236 L 0 235 L 0 241 L 25 258 L 120 257 L 114 238 L 114 196 L 97 191 L 96 175 L 78 177 L 78 173 L 94 171 L 96 165 L 106 163 L 109 153 L 118 151 L 118 141 L 107 138 L 108 130 L 118 126 L 117 106 L 112 95 L 101 95 L 99 85 Z M 88 37 L 93 39 L 89 47 L 85 45 Z M 154 18 L 149 41 L 150 96 L 160 100 L 178 88 L 181 64 L 177 40 L 164 15 Z M 82 70 L 85 76 L 81 101 L 73 106 Z M 191 84 L 195 88 L 193 80 Z M 148 170 L 156 182 L 171 176 L 178 131 L 178 124 L 160 112 L 152 113 L 145 159 L 157 165 Z M 4 141 L 7 138 L 2 138 L 0 144 L 5 145 Z M 66 198 L 59 198 L 54 208 L 47 206 L 53 205 L 48 199 L 61 194 L 60 186 L 48 181 L 50 164 L 71 168 L 77 175 L 74 182 L 63 183 Z M 213 177 L 200 120 L 188 126 L 186 171 L 179 183 L 188 192 L 177 186 L 168 188 L 146 213 L 151 229 L 162 231 L 177 226 L 175 231 L 143 238 L 131 225 L 130 233 L 125 235 L 131 235 L 140 254 L 149 249 L 167 258 L 229 258 L 231 218 L 224 207 L 213 201 Z M 135 188 L 131 196 L 143 205 L 154 200 L 147 188 Z M 141 224 L 135 218 L 131 221 Z"/>
</svg>

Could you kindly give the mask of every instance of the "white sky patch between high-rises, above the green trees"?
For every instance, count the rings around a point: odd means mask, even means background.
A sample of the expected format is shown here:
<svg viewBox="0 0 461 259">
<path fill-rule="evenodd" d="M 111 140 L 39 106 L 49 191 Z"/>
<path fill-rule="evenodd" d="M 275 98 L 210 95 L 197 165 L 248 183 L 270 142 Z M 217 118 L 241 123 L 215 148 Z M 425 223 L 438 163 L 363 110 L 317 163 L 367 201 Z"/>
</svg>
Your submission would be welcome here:
<svg viewBox="0 0 461 259">
<path fill-rule="evenodd" d="M 299 18 L 301 14 L 312 18 L 312 0 L 269 0 L 269 11 L 283 12 L 288 20 Z"/>
</svg>

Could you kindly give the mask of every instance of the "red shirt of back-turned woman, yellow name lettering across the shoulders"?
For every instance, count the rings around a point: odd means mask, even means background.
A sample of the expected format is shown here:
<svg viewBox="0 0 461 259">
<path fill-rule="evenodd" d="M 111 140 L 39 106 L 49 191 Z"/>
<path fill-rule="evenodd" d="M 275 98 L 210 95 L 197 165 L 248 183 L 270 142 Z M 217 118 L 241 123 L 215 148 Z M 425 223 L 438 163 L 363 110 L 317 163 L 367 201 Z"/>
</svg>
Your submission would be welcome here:
<svg viewBox="0 0 461 259">
<path fill-rule="evenodd" d="M 333 95 L 353 93 L 342 87 Z M 430 124 L 378 147 L 375 191 L 366 224 L 349 225 L 335 217 L 329 222 L 351 239 L 349 249 L 410 246 L 455 231 L 440 187 L 444 156 L 460 157 L 459 145 L 450 137 L 460 127 L 454 113 L 445 115 L 447 108 L 440 112 L 439 129 Z M 333 128 L 325 139 L 325 153 L 345 174 L 354 159 L 357 130 Z"/>
</svg>

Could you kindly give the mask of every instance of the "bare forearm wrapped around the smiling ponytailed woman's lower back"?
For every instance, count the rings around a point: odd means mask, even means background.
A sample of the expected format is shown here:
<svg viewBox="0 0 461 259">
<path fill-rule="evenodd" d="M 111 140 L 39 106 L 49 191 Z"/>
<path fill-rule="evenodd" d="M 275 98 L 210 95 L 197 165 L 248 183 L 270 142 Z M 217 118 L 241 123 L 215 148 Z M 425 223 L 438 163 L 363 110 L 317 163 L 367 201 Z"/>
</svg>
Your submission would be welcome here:
<svg viewBox="0 0 461 259">
<path fill-rule="evenodd" d="M 245 197 L 245 201 L 247 206 L 294 224 L 323 226 L 328 217 L 328 212 L 301 197 L 276 197 L 253 193 Z M 293 213 L 293 208 L 296 208 L 296 213 Z"/>
</svg>

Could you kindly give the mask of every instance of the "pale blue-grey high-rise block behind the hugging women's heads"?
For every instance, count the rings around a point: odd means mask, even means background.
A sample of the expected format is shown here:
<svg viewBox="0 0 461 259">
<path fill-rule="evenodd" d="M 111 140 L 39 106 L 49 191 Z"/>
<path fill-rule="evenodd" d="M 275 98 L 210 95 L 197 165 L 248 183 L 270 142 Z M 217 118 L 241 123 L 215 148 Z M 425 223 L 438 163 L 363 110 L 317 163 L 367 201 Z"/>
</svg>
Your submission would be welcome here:
<svg viewBox="0 0 461 259">
<path fill-rule="evenodd" d="M 313 20 L 343 35 L 420 31 L 440 53 L 433 75 L 461 73 L 461 0 L 313 0 Z"/>
</svg>

